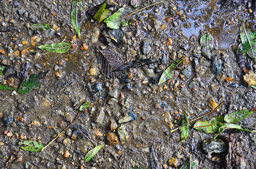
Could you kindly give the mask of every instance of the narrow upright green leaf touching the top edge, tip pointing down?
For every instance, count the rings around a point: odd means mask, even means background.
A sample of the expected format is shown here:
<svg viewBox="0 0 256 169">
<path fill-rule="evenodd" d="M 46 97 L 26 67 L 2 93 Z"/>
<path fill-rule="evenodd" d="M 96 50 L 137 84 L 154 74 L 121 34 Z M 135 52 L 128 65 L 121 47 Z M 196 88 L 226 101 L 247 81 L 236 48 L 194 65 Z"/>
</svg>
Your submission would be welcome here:
<svg viewBox="0 0 256 169">
<path fill-rule="evenodd" d="M 80 34 L 80 24 L 78 24 L 78 12 L 83 10 L 83 3 L 81 0 L 74 0 L 72 3 L 72 11 L 71 11 L 71 23 L 75 28 L 75 32 L 78 34 L 78 37 L 81 37 Z"/>
</svg>

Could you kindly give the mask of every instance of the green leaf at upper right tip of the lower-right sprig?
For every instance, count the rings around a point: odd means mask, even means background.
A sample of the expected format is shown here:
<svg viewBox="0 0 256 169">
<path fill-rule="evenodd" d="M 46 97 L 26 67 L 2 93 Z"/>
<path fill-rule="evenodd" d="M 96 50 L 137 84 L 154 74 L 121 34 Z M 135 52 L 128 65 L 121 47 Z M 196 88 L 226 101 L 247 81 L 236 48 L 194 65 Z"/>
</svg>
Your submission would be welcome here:
<svg viewBox="0 0 256 169">
<path fill-rule="evenodd" d="M 238 112 L 226 114 L 224 117 L 224 121 L 227 123 L 236 123 L 248 117 L 251 113 L 253 112 L 250 112 L 248 110 L 240 110 Z"/>
</svg>

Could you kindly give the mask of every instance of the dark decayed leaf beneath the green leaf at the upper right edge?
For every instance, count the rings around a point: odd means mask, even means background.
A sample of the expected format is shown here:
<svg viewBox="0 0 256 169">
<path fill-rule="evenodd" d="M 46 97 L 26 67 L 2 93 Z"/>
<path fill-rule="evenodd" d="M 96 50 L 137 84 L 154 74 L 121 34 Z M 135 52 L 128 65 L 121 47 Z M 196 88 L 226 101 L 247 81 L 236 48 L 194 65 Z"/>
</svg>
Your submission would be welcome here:
<svg viewBox="0 0 256 169">
<path fill-rule="evenodd" d="M 244 47 L 243 43 L 240 43 L 237 47 L 237 62 L 238 65 L 242 70 L 244 70 L 245 73 L 249 73 L 250 70 L 252 70 L 252 64 L 251 60 L 249 59 L 248 54 L 246 54 L 246 49 Z"/>
</svg>

